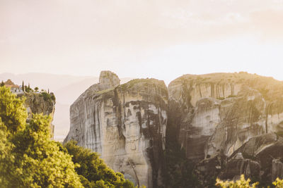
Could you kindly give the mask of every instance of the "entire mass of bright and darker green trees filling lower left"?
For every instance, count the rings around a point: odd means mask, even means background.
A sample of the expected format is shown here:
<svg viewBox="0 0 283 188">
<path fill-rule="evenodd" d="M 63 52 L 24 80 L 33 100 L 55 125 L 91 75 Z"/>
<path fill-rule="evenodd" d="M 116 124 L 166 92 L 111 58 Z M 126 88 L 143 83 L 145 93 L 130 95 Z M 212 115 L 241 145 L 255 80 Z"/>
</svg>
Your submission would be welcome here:
<svg viewBox="0 0 283 188">
<path fill-rule="evenodd" d="M 0 87 L 1 187 L 134 187 L 96 153 L 50 140 L 50 116 L 27 123 L 23 103 Z"/>
</svg>

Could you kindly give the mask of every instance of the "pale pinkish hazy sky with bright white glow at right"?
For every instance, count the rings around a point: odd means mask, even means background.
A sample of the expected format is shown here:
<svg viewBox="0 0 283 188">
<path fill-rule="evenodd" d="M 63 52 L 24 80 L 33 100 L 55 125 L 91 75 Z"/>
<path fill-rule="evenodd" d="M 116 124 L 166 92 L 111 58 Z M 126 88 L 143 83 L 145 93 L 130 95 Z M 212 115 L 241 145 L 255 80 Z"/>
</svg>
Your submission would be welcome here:
<svg viewBox="0 0 283 188">
<path fill-rule="evenodd" d="M 283 80 L 283 0 L 0 0 L 0 73 Z"/>
</svg>

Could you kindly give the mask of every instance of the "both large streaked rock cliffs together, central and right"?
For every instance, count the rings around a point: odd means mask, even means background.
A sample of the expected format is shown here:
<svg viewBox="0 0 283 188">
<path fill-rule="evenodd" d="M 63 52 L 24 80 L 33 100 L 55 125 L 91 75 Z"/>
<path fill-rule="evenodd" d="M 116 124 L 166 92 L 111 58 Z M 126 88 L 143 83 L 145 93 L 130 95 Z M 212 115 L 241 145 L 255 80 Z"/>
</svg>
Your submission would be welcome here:
<svg viewBox="0 0 283 188">
<path fill-rule="evenodd" d="M 154 79 L 120 85 L 103 71 L 72 104 L 64 142 L 74 139 L 127 179 L 158 187 L 171 130 L 202 187 L 241 174 L 271 182 L 283 177 L 282 94 L 283 82 L 248 73 L 183 75 L 167 89 Z"/>
</svg>

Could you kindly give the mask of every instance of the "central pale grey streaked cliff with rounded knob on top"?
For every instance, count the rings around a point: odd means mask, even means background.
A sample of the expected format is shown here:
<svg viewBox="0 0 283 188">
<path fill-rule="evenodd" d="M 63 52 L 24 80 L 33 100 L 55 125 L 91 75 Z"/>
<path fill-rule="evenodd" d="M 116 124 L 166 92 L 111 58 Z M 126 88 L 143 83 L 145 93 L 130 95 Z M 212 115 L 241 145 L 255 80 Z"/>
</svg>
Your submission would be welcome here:
<svg viewBox="0 0 283 188">
<path fill-rule="evenodd" d="M 64 142 L 101 154 L 105 163 L 136 184 L 162 184 L 168 92 L 163 81 L 132 80 L 120 85 L 103 71 L 70 108 L 71 127 Z"/>
</svg>

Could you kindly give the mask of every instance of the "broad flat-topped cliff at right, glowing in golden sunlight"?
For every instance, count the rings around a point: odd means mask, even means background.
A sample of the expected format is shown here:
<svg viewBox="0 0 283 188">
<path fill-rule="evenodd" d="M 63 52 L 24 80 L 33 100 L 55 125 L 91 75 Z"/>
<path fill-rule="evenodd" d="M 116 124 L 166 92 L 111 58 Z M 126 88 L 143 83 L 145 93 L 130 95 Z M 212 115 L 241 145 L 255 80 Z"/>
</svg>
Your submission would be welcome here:
<svg viewBox="0 0 283 188">
<path fill-rule="evenodd" d="M 282 174 L 272 158 L 282 156 L 283 82 L 248 73 L 184 75 L 168 93 L 168 126 L 204 185 L 216 176 L 271 182 Z"/>
</svg>

